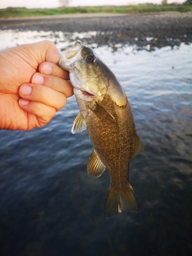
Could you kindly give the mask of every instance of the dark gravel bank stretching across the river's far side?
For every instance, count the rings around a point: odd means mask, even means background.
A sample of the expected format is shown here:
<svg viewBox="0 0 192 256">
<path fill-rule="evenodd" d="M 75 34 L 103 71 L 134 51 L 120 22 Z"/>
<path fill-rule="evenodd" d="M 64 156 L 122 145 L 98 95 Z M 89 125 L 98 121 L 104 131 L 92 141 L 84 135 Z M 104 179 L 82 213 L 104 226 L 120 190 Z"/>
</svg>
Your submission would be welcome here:
<svg viewBox="0 0 192 256">
<path fill-rule="evenodd" d="M 76 14 L 0 19 L 0 29 L 44 30 L 63 32 L 97 31 L 84 38 L 87 44 L 137 45 L 138 49 L 179 46 L 192 42 L 192 12 L 161 12 L 144 14 Z M 78 38 L 77 38 L 78 39 Z"/>
</svg>

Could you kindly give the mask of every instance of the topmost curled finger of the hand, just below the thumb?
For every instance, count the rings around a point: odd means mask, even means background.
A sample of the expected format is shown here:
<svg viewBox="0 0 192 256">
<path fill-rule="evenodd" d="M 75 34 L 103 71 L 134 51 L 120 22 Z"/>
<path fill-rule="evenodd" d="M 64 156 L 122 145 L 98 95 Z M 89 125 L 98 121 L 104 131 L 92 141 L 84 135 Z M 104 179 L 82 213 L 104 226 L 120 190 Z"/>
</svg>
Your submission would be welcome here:
<svg viewBox="0 0 192 256">
<path fill-rule="evenodd" d="M 41 74 L 44 75 L 58 76 L 66 80 L 69 79 L 69 72 L 67 70 L 61 69 L 59 66 L 57 66 L 56 63 L 53 63 L 51 61 L 44 61 L 40 63 L 38 70 Z"/>
</svg>

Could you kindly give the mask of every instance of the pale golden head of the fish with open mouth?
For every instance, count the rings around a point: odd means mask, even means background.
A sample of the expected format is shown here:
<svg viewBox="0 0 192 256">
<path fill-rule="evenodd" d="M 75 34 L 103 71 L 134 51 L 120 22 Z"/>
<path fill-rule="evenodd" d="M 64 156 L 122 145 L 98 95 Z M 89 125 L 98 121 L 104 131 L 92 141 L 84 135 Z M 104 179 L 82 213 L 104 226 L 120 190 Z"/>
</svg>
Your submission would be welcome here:
<svg viewBox="0 0 192 256">
<path fill-rule="evenodd" d="M 59 66 L 70 72 L 73 87 L 81 91 L 82 97 L 102 100 L 107 91 L 107 80 L 102 71 L 102 61 L 80 40 L 63 53 Z"/>
</svg>

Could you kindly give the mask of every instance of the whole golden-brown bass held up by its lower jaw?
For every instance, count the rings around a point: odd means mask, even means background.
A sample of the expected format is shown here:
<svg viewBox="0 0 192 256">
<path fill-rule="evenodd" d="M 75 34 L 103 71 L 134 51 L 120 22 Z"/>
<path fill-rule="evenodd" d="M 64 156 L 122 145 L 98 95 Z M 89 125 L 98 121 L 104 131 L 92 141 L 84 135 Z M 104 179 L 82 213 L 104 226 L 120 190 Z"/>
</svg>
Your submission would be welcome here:
<svg viewBox="0 0 192 256">
<path fill-rule="evenodd" d="M 130 184 L 129 168 L 130 161 L 144 150 L 144 146 L 119 80 L 80 40 L 63 53 L 59 66 L 69 71 L 80 110 L 72 133 L 87 129 L 93 143 L 88 175 L 98 178 L 105 167 L 109 170 L 111 182 L 104 216 L 111 218 L 122 211 L 137 212 L 139 206 Z"/>
</svg>

